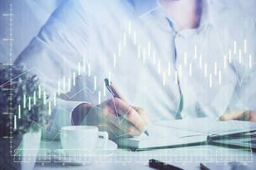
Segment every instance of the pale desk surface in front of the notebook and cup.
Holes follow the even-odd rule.
[[[57,143],[55,142],[55,145]],[[199,164],[207,164],[207,162],[218,162],[223,166],[228,162],[238,162],[250,169],[255,169],[256,166],[256,153],[250,149],[201,145],[137,151],[116,149],[112,154],[92,156],[89,161],[86,160],[79,165],[70,163],[68,157],[58,161],[55,157],[51,157],[50,162],[37,162],[34,169],[151,169],[149,159],[157,159],[182,169],[200,169]],[[79,160],[78,156],[76,160]]]

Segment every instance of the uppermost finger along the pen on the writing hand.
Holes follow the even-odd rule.
[[[132,123],[140,132],[146,130],[146,124],[144,123],[143,118],[134,110],[134,108],[119,98],[112,98],[110,102],[112,102],[112,108],[109,107],[108,109],[112,110],[109,110],[112,114],[114,111],[115,115],[117,115],[117,113],[123,115],[124,118]],[[109,106],[111,106],[111,104]]]

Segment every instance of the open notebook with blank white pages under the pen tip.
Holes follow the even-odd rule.
[[[163,121],[161,125],[149,125],[147,130],[150,134],[149,137],[143,133],[139,137],[119,139],[117,144],[131,148],[196,145],[207,143],[213,137],[256,131],[256,123],[238,120],[220,121],[214,120],[213,118],[196,118]]]

